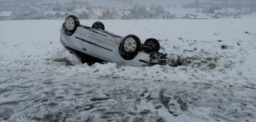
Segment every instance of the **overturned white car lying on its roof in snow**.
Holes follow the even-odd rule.
[[[82,63],[112,62],[118,66],[165,65],[166,54],[159,53],[157,39],[147,39],[144,44],[135,35],[118,36],[105,30],[103,23],[92,27],[80,25],[78,18],[69,15],[61,26],[61,43]]]

